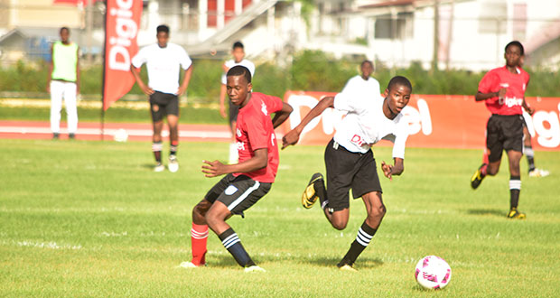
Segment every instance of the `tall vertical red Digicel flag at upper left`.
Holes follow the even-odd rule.
[[[142,0],[107,0],[103,109],[122,98],[135,84],[130,60],[138,51],[136,36]]]

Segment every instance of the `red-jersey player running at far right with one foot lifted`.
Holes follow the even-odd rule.
[[[523,111],[532,114],[532,108],[525,102],[525,90],[529,75],[519,66],[524,50],[520,42],[509,42],[504,57],[506,65],[490,70],[479,83],[476,101],[484,101],[492,113],[486,126],[486,149],[488,161],[471,177],[472,189],[481,185],[486,175],[494,176],[499,171],[501,154],[504,150],[509,160],[509,219],[525,219],[518,210],[521,191],[519,162],[523,156]]]

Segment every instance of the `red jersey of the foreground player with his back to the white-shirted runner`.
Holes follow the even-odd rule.
[[[236,125],[239,163],[251,159],[255,156],[255,150],[260,148],[268,149],[268,163],[266,168],[254,172],[236,172],[235,176],[243,174],[257,182],[275,182],[280,159],[270,115],[280,111],[282,105],[280,98],[253,92],[247,105],[239,108]]]

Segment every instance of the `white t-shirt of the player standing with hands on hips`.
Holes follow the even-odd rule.
[[[148,70],[148,86],[169,94],[176,94],[179,89],[179,67],[188,70],[192,65],[191,57],[182,46],[171,42],[165,48],[154,43],[138,51],[132,65],[140,68],[144,63]]]

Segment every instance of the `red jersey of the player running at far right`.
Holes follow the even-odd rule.
[[[481,93],[498,92],[500,88],[507,88],[503,99],[498,97],[485,100],[486,107],[492,114],[521,115],[523,114],[523,98],[529,82],[527,71],[516,68],[517,73],[509,72],[506,66],[487,72],[479,83]]]

